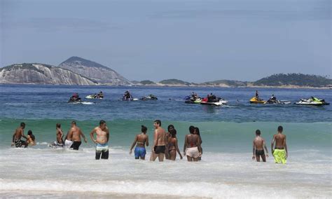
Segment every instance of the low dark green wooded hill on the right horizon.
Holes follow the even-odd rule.
[[[258,86],[284,86],[295,85],[302,87],[327,87],[332,85],[332,79],[323,76],[307,74],[273,74],[255,81]]]

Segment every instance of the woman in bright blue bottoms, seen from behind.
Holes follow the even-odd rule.
[[[129,154],[132,154],[132,149],[135,144],[137,144],[134,151],[135,159],[145,160],[145,146],[148,146],[148,135],[146,135],[147,130],[148,128],[146,128],[146,126],[141,125],[141,133],[135,136],[134,142],[132,143]]]

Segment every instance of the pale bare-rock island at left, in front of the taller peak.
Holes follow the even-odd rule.
[[[96,85],[95,81],[48,64],[12,64],[0,69],[0,83]]]

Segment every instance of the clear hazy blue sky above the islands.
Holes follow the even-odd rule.
[[[330,0],[0,0],[0,66],[71,56],[133,81],[331,78]]]

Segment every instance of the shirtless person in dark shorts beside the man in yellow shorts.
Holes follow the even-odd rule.
[[[266,151],[266,157],[263,147]],[[268,147],[266,147],[265,140],[261,137],[261,130],[256,130],[256,137],[252,142],[252,153],[253,160],[256,157],[256,161],[260,162],[260,158],[262,157],[263,162],[266,162],[266,158],[268,157]]]

